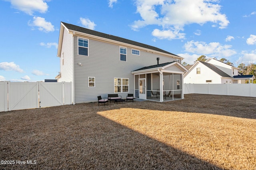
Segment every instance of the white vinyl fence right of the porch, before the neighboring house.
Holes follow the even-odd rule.
[[[256,84],[184,84],[184,94],[256,97]]]

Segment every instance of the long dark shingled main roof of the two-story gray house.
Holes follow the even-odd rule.
[[[62,23],[65,25],[65,27],[67,27],[68,29],[71,29],[73,31],[78,31],[78,32],[81,32],[81,33],[87,33],[87,34],[90,34],[90,35],[95,35],[95,36],[98,36],[98,37],[112,39],[114,41],[119,41],[119,42],[122,42],[122,43],[136,45],[138,47],[143,47],[143,48],[146,48],[146,49],[151,49],[151,50],[154,50],[154,51],[159,51],[159,52],[170,54],[170,55],[175,55],[175,54],[169,53],[168,51],[164,51],[164,50],[159,49],[157,47],[153,47],[151,45],[138,43],[136,41],[132,41],[132,40],[129,40],[129,39],[124,39],[124,38],[117,37],[117,36],[110,35],[110,34],[101,33],[101,32],[98,32],[98,31],[94,31],[94,30],[87,29],[87,28],[84,28],[84,27],[79,27],[79,26],[72,25],[72,24],[69,24],[69,23],[64,23],[64,22],[62,22]],[[175,56],[178,56],[178,55],[175,55]],[[180,57],[180,56],[178,56],[178,57]]]

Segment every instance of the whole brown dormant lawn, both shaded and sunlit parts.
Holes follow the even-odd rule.
[[[0,159],[0,169],[255,170],[256,98],[0,112]]]

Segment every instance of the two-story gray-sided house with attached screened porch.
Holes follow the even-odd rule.
[[[57,56],[56,79],[72,82],[73,104],[108,94],[160,102],[184,98],[183,58],[150,45],[61,22]]]

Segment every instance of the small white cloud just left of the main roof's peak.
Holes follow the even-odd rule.
[[[38,27],[40,31],[44,31],[46,33],[54,31],[54,25],[52,25],[52,23],[46,21],[42,17],[33,17],[32,23],[28,21],[28,25],[32,27]]]

